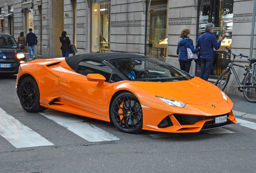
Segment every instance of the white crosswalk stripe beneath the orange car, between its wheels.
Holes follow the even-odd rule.
[[[72,114],[54,110],[46,110],[44,112],[40,112],[40,114],[53,120],[89,142],[120,140],[111,133],[108,133],[90,123],[85,123],[83,120],[76,118]]]

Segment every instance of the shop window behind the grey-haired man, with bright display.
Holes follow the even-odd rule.
[[[216,39],[223,37],[221,47],[215,50],[215,58],[211,78],[217,78],[230,62],[230,56],[225,52],[225,47],[231,49],[233,30],[233,3],[234,0],[200,0],[198,36],[204,34],[204,27],[212,22],[215,25],[213,34]],[[200,75],[200,66],[196,68],[196,76]],[[215,76],[215,77],[214,77]]]

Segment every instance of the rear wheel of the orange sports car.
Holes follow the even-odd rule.
[[[21,106],[29,113],[41,112],[45,108],[40,106],[40,94],[37,82],[31,76],[24,78],[19,84],[18,95]]]

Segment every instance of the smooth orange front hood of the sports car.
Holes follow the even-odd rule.
[[[145,82],[137,84],[140,86],[134,87],[139,87],[140,91],[187,104],[206,105],[207,103],[218,103],[223,100],[219,88],[198,77],[184,81],[150,82],[147,86],[145,86]]]

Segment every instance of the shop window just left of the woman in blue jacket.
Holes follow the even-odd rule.
[[[149,3],[146,55],[165,60],[168,43],[168,0],[151,0]]]

